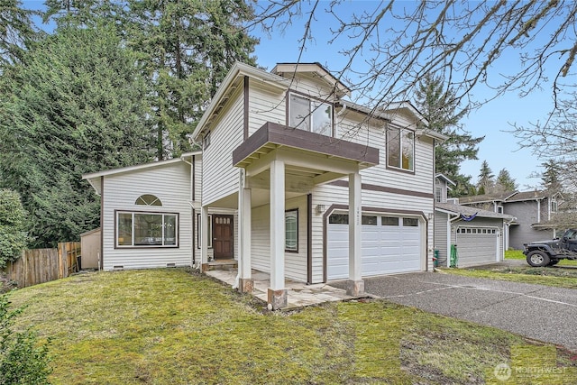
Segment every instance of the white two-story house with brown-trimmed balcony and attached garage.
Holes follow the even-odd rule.
[[[104,192],[103,268],[234,259],[241,291],[252,270],[270,273],[273,308],[288,279],[348,280],[360,295],[363,277],[432,270],[435,145],[447,138],[408,102],[375,111],[349,93],[318,63],[234,64],[192,133],[202,155],[84,177]],[[139,206],[148,195],[163,206]],[[141,212],[176,220],[178,241],[124,244]]]

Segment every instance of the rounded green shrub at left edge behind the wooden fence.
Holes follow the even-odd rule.
[[[13,190],[0,189],[0,269],[8,261],[16,261],[28,242],[25,229],[26,212],[20,196]]]

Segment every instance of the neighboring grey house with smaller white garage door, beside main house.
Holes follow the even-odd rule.
[[[435,250],[439,266],[451,266],[452,247],[457,266],[468,267],[503,261],[511,215],[478,207],[462,206],[447,199],[453,181],[443,174],[435,178]]]

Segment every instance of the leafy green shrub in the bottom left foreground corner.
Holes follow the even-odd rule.
[[[14,332],[14,317],[22,308],[10,310],[6,294],[0,296],[0,385],[49,384],[48,344],[39,344],[30,329]]]

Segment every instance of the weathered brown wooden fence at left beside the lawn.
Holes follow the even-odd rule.
[[[5,273],[19,288],[60,280],[78,271],[79,242],[58,243],[56,249],[24,250],[22,258],[8,262]]]

